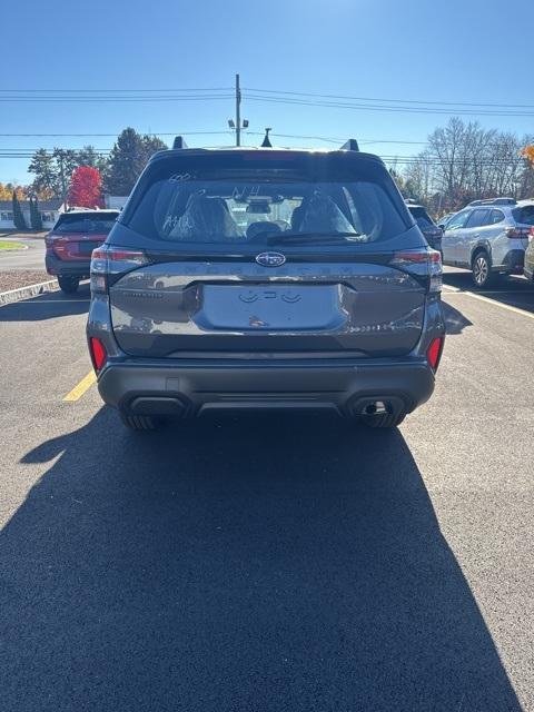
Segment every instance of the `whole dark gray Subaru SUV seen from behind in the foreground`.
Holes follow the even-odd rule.
[[[350,140],[156,154],[91,263],[89,349],[135,429],[220,409],[392,427],[434,389],[439,253]]]

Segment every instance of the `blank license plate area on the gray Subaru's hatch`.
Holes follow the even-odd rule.
[[[346,322],[339,285],[205,285],[195,320],[206,329],[329,330]]]

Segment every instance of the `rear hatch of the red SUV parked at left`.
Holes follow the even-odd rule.
[[[118,212],[63,214],[47,237],[47,248],[63,261],[89,261],[109,235]]]

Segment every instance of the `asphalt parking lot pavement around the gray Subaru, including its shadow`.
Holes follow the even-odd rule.
[[[390,433],[134,434],[88,291],[0,308],[0,710],[534,710],[534,288],[447,270],[432,400]]]

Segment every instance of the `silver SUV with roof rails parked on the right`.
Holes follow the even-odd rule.
[[[476,287],[501,275],[522,274],[534,200],[475,200],[452,217],[442,240],[445,265],[472,270]]]

